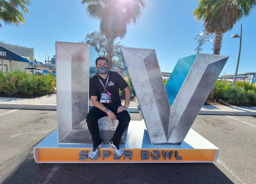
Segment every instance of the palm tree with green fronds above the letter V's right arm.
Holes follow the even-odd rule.
[[[223,34],[248,16],[255,6],[256,0],[199,0],[193,15],[197,22],[202,20],[207,32],[215,34],[213,54],[219,55]]]

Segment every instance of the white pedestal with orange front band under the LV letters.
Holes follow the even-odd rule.
[[[57,131],[34,147],[38,163],[139,163],[139,162],[214,162],[219,149],[190,129],[181,145],[152,145],[143,121],[131,121],[126,143],[120,145],[124,155],[117,157],[108,144],[92,160],[88,154],[92,144],[57,143]]]

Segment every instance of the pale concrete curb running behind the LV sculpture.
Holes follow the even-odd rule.
[[[32,109],[32,110],[56,110],[56,105],[52,104],[22,104],[22,103],[0,103],[0,109]],[[128,108],[130,113],[139,113],[138,108]],[[200,115],[233,115],[233,116],[256,116],[253,111],[216,111],[200,110]]]

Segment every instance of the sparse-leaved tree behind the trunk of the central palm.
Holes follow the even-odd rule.
[[[87,33],[83,41],[79,41],[79,43],[90,44],[97,52],[99,56],[106,57],[107,55],[107,39],[105,35],[99,33],[98,31],[94,31],[90,34]],[[120,42],[114,43],[113,45],[113,67],[120,68],[123,65],[123,61],[121,58],[121,47]]]

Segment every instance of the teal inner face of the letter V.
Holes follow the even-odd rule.
[[[178,60],[175,68],[173,69],[172,75],[170,76],[168,82],[166,83],[166,92],[169,98],[170,106],[172,106],[174,99],[176,98],[181,85],[183,84],[188,71],[192,67],[196,59],[197,54],[183,57]]]

